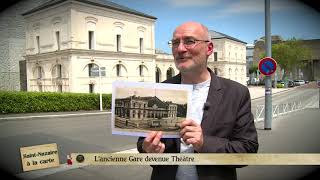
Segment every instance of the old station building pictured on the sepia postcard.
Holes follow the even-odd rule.
[[[178,105],[153,97],[130,96],[115,100],[115,125],[118,127],[176,128]],[[184,116],[185,117],[185,116]]]

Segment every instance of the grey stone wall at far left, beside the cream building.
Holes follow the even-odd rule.
[[[23,0],[0,12],[0,90],[26,89],[20,85],[21,68],[19,61],[25,55],[25,26],[26,21],[21,15],[49,0]],[[25,71],[24,76],[25,76]]]

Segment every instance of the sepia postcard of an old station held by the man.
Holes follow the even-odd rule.
[[[181,121],[189,117],[191,85],[114,81],[112,134],[146,136],[162,131],[179,138]]]

